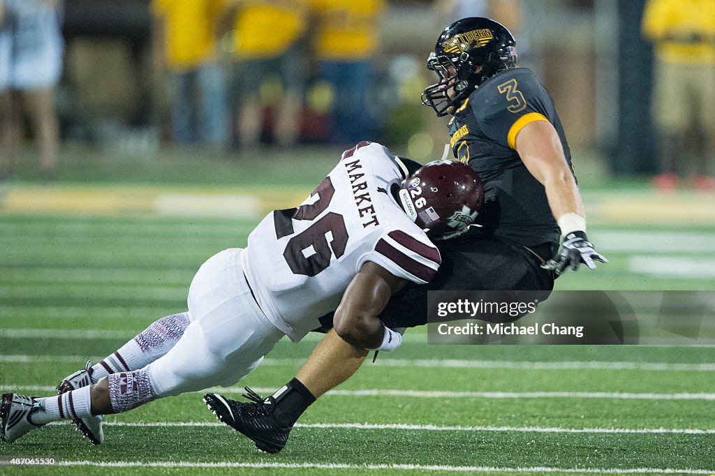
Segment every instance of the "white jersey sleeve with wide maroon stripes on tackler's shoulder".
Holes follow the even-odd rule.
[[[442,264],[439,250],[425,235],[412,235],[399,229],[383,234],[373,251],[360,260],[358,269],[366,261],[380,264],[395,276],[417,284],[430,282]]]

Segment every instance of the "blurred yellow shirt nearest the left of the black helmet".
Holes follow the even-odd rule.
[[[384,0],[311,0],[317,16],[315,53],[320,59],[368,59],[379,47]]]

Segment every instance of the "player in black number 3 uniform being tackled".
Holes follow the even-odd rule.
[[[571,152],[551,96],[532,71],[517,67],[511,33],[490,19],[455,21],[440,35],[428,68],[439,81],[425,89],[423,103],[451,116],[454,156],[480,175],[485,203],[480,227],[441,242],[435,278],[393,295],[380,314],[385,325],[426,324],[430,289],[548,294],[568,267],[606,262],[586,237]],[[235,407],[244,434],[280,450],[315,401],[293,387],[319,397],[358,370],[366,354],[329,332],[294,380],[265,400]]]

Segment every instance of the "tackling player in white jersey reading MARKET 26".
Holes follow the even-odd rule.
[[[431,162],[409,175],[388,149],[360,142],[300,207],[268,214],[246,248],[204,262],[187,312],[157,320],[99,364],[88,362],[57,396],[4,394],[2,440],[66,419],[98,445],[100,415],[233,385],[281,337],[300,340],[334,309],[345,342],[395,349],[402,336],[385,327],[380,311],[405,283],[432,279],[440,254],[431,240],[464,232],[482,202],[481,182],[464,164]]]

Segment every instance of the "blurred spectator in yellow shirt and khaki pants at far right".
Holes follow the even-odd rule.
[[[715,0],[649,0],[643,34],[656,54],[654,122],[660,174],[654,187],[672,191],[679,172],[694,173],[701,191],[715,189]],[[692,144],[695,164],[684,164]],[[680,161],[680,163],[678,163]]]

